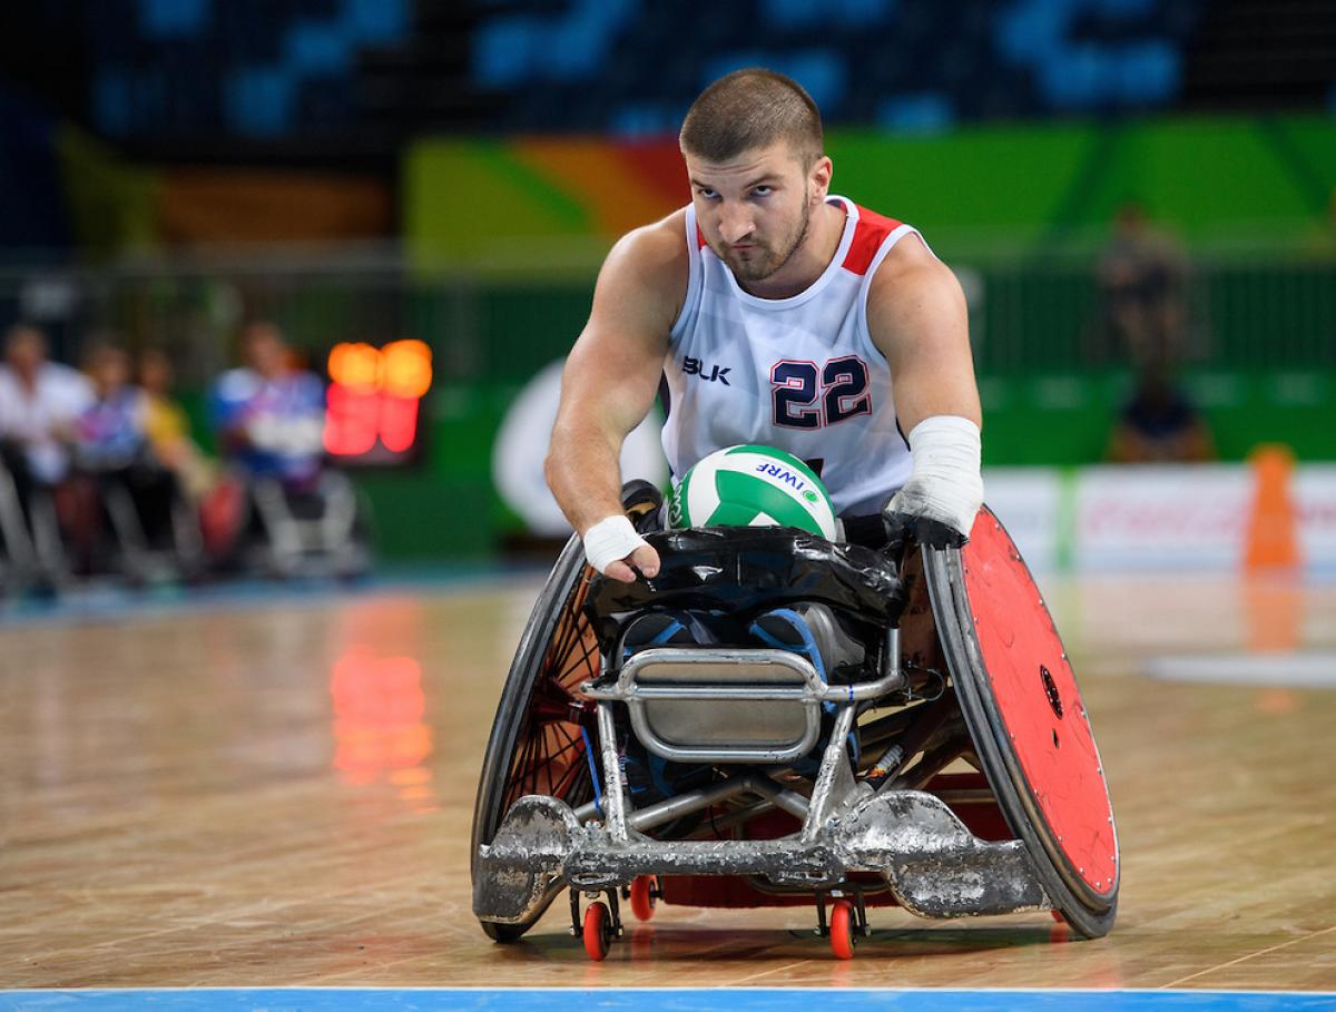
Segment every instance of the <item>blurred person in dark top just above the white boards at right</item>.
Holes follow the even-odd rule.
[[[1109,439],[1114,463],[1210,461],[1216,455],[1205,421],[1164,370],[1150,368],[1122,409]]]

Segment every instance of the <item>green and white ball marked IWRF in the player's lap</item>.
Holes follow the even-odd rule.
[[[669,527],[799,527],[835,539],[831,497],[806,463],[770,446],[729,446],[697,461],[668,499]]]

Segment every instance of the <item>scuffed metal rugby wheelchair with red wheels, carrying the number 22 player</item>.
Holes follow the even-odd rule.
[[[883,905],[1049,909],[1078,935],[1109,931],[1104,769],[1057,630],[987,507],[963,547],[911,545],[896,562],[875,537],[660,531],[645,483],[623,505],[660,573],[607,579],[572,538],[502,692],[470,865],[492,939],[520,939],[562,888],[595,960],[625,900],[640,919],[659,900],[815,903],[840,959]],[[763,617],[804,610],[824,627],[806,645],[766,633]],[[657,634],[637,634],[655,617]],[[696,625],[713,636],[676,636]]]

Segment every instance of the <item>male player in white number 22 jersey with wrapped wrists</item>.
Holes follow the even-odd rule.
[[[839,514],[884,507],[892,531],[967,535],[981,413],[955,276],[910,226],[828,194],[820,113],[783,75],[715,81],[680,140],[692,202],[608,254],[562,375],[545,470],[589,563],[627,582],[659,571],[617,459],[660,375],[675,475],[775,446],[814,462]]]

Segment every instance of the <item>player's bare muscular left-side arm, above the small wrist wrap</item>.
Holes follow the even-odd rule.
[[[561,375],[561,405],[544,466],[557,505],[581,537],[621,514],[621,445],[653,403],[668,332],[685,298],[687,271],[676,214],[624,236],[599,274],[589,322]],[[643,558],[644,551],[649,555]],[[647,547],[633,561],[648,565],[651,557],[656,563]],[[625,563],[607,571],[633,578]]]

